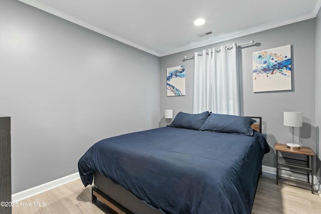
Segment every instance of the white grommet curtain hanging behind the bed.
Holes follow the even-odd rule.
[[[203,50],[194,56],[193,113],[241,114],[237,46]]]

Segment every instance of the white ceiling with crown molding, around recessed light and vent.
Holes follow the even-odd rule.
[[[158,57],[311,19],[321,6],[321,0],[19,1]],[[206,23],[195,26],[198,18]],[[197,36],[209,30],[214,34]]]

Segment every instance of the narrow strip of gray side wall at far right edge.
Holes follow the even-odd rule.
[[[321,181],[321,147],[320,147],[320,126],[321,126],[321,10],[315,22],[315,127],[316,127],[316,177]]]

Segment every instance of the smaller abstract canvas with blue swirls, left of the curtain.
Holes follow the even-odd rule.
[[[167,96],[185,95],[185,65],[167,69]]]

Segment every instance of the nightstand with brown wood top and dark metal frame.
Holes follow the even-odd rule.
[[[278,184],[278,179],[288,179],[300,183],[310,184],[311,192],[313,194],[313,157],[315,156],[313,150],[309,147],[301,146],[299,149],[290,149],[286,144],[275,143],[275,152],[276,152],[276,184]],[[294,157],[279,157],[279,152],[287,152],[292,154],[305,155],[306,160],[302,160]],[[309,157],[311,157],[311,168],[309,167]],[[284,169],[287,168],[287,169]],[[290,177],[281,177],[279,176],[279,170],[290,171],[293,170],[294,173],[305,174],[307,176],[307,182],[301,180],[292,179]],[[311,182],[309,179],[309,174],[311,173]]]

